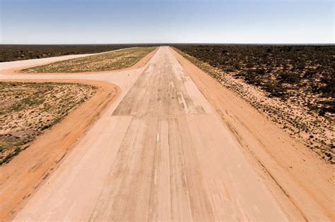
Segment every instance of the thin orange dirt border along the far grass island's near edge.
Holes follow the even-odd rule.
[[[146,56],[144,56],[143,58],[141,58],[139,61],[137,61],[134,65],[127,67],[127,68],[120,68],[117,70],[103,70],[103,71],[92,71],[92,72],[76,72],[74,74],[98,74],[98,73],[117,73],[120,71],[125,71],[125,70],[134,70],[136,68],[142,68],[143,66],[146,65],[146,63],[148,63],[148,61],[151,59],[151,57],[153,57],[153,55],[156,53],[156,51],[158,50],[158,47],[156,47],[153,51],[151,51],[150,53],[148,53]],[[85,58],[81,57],[81,58]],[[45,66],[49,63],[42,63],[39,66]],[[9,74],[9,75],[18,75],[18,74],[23,74],[23,75],[69,75],[71,73],[23,73],[21,70],[23,69],[28,69],[28,68],[33,68],[35,67],[35,65],[30,65],[30,66],[20,66],[20,67],[16,67],[16,68],[9,68],[6,70],[1,70],[1,74]]]

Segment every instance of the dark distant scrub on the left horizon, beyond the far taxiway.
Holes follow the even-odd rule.
[[[71,54],[92,54],[148,44],[76,44],[76,45],[14,45],[0,44],[0,62],[31,58],[47,58]]]

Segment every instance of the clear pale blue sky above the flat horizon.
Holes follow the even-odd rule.
[[[0,0],[1,44],[334,43],[327,0]]]

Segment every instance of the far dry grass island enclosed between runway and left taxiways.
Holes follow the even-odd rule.
[[[22,70],[25,73],[81,73],[128,68],[153,51],[155,47],[136,47],[94,56],[58,61]]]

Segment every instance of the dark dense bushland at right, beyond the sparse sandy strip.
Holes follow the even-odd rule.
[[[177,45],[200,61],[256,85],[269,97],[302,98],[319,115],[335,113],[335,46]]]

